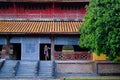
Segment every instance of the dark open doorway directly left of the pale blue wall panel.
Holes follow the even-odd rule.
[[[21,60],[21,43],[13,43],[13,54],[15,60]]]

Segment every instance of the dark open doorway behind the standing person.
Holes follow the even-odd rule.
[[[45,60],[45,54],[44,54],[44,47],[45,47],[45,45],[47,45],[49,48],[51,47],[51,45],[50,44],[40,44],[40,60]],[[49,58],[48,58],[48,60],[51,60],[51,49],[48,49],[48,56],[49,56]]]

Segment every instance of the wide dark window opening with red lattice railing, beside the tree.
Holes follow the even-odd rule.
[[[88,49],[80,48],[79,45],[56,45],[54,57],[56,60],[90,60]]]

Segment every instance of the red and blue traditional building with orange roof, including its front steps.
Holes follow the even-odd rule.
[[[6,58],[19,60],[14,62],[17,69],[14,76],[30,76],[34,69],[37,70],[34,75],[41,77],[48,73],[95,75],[92,55],[78,44],[78,27],[84,21],[88,4],[89,0],[0,0],[0,50],[6,50]],[[48,60],[45,60],[45,45],[50,48]],[[27,63],[31,69],[23,67],[24,61],[36,63]],[[3,74],[0,72],[0,76]]]

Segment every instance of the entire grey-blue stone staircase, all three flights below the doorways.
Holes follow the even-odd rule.
[[[40,77],[52,78],[52,61],[5,61],[0,77]],[[13,66],[14,65],[14,66]],[[14,69],[16,66],[17,69]],[[16,73],[16,75],[15,75]]]

